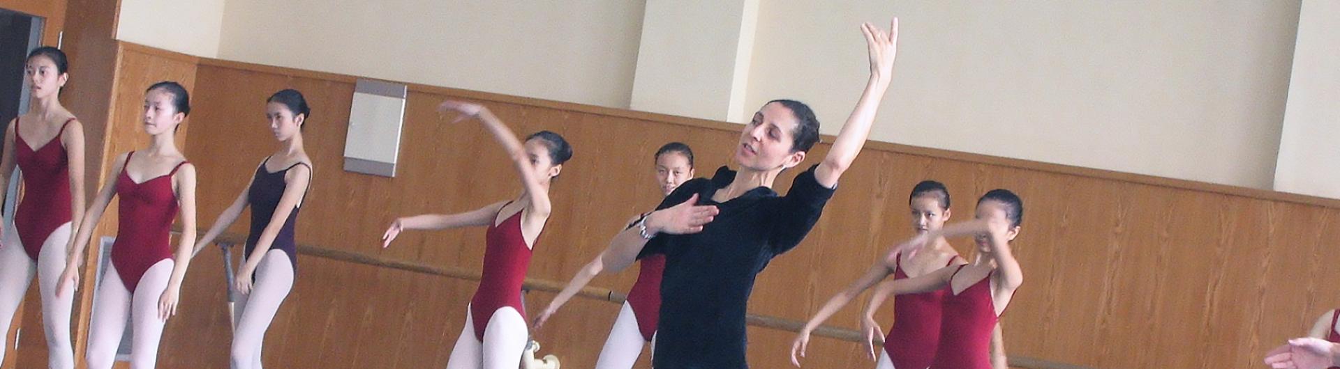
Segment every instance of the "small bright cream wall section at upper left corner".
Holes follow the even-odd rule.
[[[196,56],[218,56],[225,0],[121,0],[117,39]]]

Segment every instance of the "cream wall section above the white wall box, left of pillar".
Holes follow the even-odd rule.
[[[643,5],[228,0],[218,56],[627,108]]]

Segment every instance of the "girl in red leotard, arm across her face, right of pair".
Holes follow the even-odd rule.
[[[902,250],[921,247],[939,237],[970,234],[977,241],[978,254],[972,263],[894,281],[894,294],[949,289],[941,308],[939,345],[930,368],[990,369],[992,332],[1014,297],[1014,290],[1024,282],[1024,274],[1009,246],[1024,221],[1024,202],[1009,190],[992,190],[977,201],[976,218],[973,222],[919,234],[896,247],[887,258],[894,259]],[[807,325],[792,344],[793,364],[799,365],[797,354],[804,357],[812,329],[812,325]]]

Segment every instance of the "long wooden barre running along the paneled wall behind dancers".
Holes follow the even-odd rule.
[[[244,238],[244,237],[232,235],[232,234],[224,234],[224,235],[220,235],[214,241],[214,243],[241,245],[243,242],[245,242],[245,239],[247,238]],[[328,247],[320,247],[320,246],[297,245],[297,253],[299,254],[304,254],[304,255],[327,258],[327,259],[332,259],[332,261],[342,261],[342,262],[352,262],[352,263],[360,263],[360,265],[368,265],[368,266],[389,267],[389,269],[406,270],[406,271],[414,271],[414,273],[422,273],[422,274],[431,274],[431,275],[442,275],[442,277],[457,278],[457,279],[466,279],[466,281],[478,281],[480,279],[480,271],[477,271],[477,270],[469,270],[469,269],[462,269],[462,267],[450,267],[450,266],[437,266],[437,265],[429,265],[429,263],[423,263],[423,262],[397,261],[397,259],[390,259],[390,258],[374,257],[374,255],[368,255],[368,254],[346,251],[346,250],[336,250],[336,249],[328,249]],[[525,278],[525,282],[521,285],[521,287],[527,289],[527,290],[547,291],[547,293],[555,293],[555,294],[563,291],[564,286],[565,286],[565,283],[563,283],[563,282],[548,281],[548,279],[539,279],[539,278]],[[614,302],[614,303],[623,303],[623,301],[627,299],[627,294],[618,293],[618,291],[614,291],[614,290],[610,290],[610,289],[591,287],[591,286],[582,287],[582,290],[578,291],[576,295],[583,297],[583,298],[590,298],[590,299],[608,301],[608,302]],[[758,316],[758,314],[746,314],[745,316],[745,322],[748,322],[752,326],[766,328],[766,329],[776,329],[776,330],[785,330],[785,332],[800,332],[800,329],[805,326],[805,324],[801,322],[801,321],[779,318],[779,317],[769,317],[769,316]],[[819,336],[819,337],[828,337],[828,338],[842,340],[842,341],[847,341],[847,342],[858,342],[858,344],[859,342],[864,342],[864,337],[862,337],[860,332],[856,332],[856,330],[852,330],[852,329],[828,326],[828,325],[819,326],[817,329],[815,329],[815,332],[812,334],[813,336]],[[883,340],[883,337],[876,338],[876,344],[882,344],[882,342],[879,342],[882,340]],[[1080,366],[1080,365],[1072,365],[1072,364],[1064,364],[1064,362],[1055,362],[1055,361],[1048,361],[1048,360],[1041,360],[1041,358],[1034,358],[1034,357],[1026,357],[1026,356],[1009,356],[1008,360],[1009,360],[1009,365],[1014,366],[1014,368],[1028,368],[1028,369],[1092,369],[1092,368],[1088,368],[1088,366]]]

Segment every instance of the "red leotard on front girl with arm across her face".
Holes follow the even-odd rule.
[[[959,265],[949,281],[963,270]],[[996,302],[992,298],[992,274],[977,281],[958,294],[945,295],[943,318],[939,326],[939,348],[935,348],[933,369],[992,369],[990,342],[992,329],[1000,317],[996,316]]]

